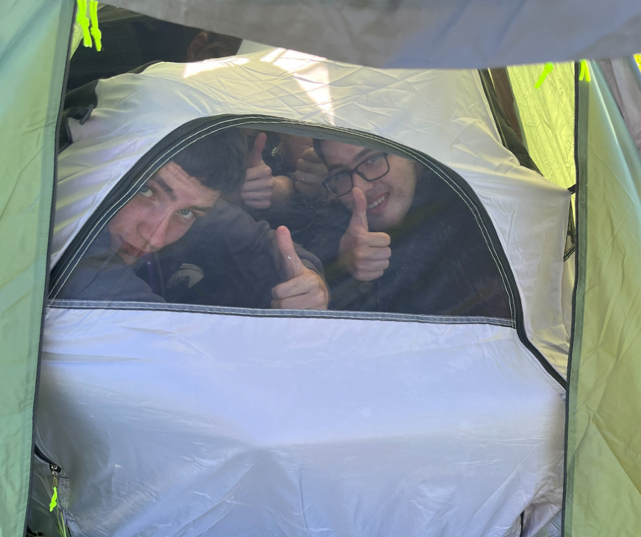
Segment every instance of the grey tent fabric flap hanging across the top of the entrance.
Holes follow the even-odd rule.
[[[112,0],[176,23],[372,67],[469,68],[641,51],[635,0]]]

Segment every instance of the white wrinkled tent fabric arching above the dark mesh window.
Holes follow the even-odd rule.
[[[158,63],[99,81],[99,106],[59,159],[52,265],[131,167],[194,118],[263,114],[379,134],[469,183],[489,213],[523,302],[525,328],[564,372],[560,308],[570,196],[500,143],[474,71],[376,70],[285,50]]]

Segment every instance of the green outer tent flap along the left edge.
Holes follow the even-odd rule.
[[[73,4],[0,5],[0,536],[20,536],[47,268],[55,131]]]

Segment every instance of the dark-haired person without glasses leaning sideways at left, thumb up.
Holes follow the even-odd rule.
[[[243,182],[244,157],[229,130],[176,154],[109,220],[58,297],[327,308],[316,257],[285,227],[220,200]]]

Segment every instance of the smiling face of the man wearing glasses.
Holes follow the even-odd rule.
[[[349,171],[380,154],[378,149],[367,149],[357,145],[323,141],[323,156],[329,175]],[[389,171],[380,179],[366,181],[354,172],[352,182],[365,194],[367,199],[367,222],[370,231],[385,231],[405,218],[414,199],[418,165],[416,162],[396,155],[388,155]],[[338,198],[345,207],[354,209],[352,192]]]

